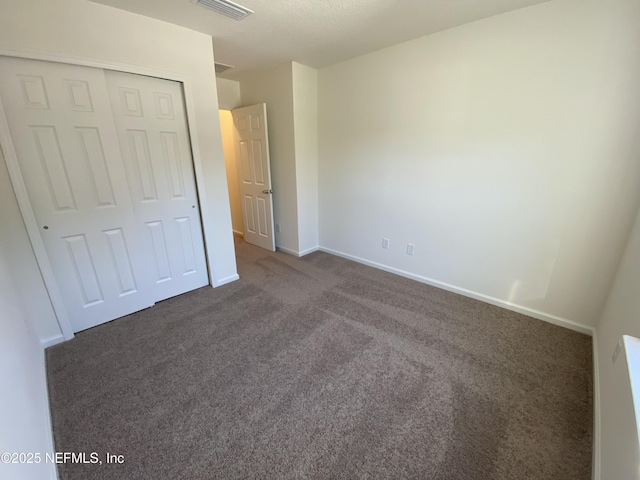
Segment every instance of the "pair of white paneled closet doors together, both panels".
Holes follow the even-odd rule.
[[[174,82],[118,74],[131,77],[135,86],[115,87],[119,97],[110,99],[106,73],[0,57],[0,99],[74,331],[208,283],[197,202],[189,193],[195,185],[180,86],[176,90]],[[167,87],[161,88],[164,83]],[[121,93],[126,88],[137,95],[130,99]],[[146,106],[146,96],[157,103]],[[176,123],[130,127],[112,108],[121,99],[133,108],[138,101],[138,113],[144,107],[148,120],[173,114]],[[128,163],[132,145],[138,155],[133,160],[144,156],[144,166]],[[140,176],[134,172],[147,167],[142,203],[153,206],[143,212],[136,204]],[[180,180],[171,184],[174,173]],[[175,202],[182,209],[168,208],[178,188],[186,202]],[[155,215],[150,213],[154,208]]]

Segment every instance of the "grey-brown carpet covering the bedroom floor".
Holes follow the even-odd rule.
[[[56,450],[103,462],[62,479],[591,478],[590,337],[326,253],[237,254],[241,280],[47,350]]]

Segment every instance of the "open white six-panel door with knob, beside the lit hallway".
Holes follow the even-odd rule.
[[[276,242],[273,232],[267,107],[260,103],[237,108],[231,113],[235,125],[244,239],[273,252]]]

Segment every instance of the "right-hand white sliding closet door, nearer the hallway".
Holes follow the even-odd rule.
[[[106,72],[155,301],[208,285],[182,85]]]

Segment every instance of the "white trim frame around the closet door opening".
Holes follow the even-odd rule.
[[[70,65],[78,65],[84,67],[100,68],[103,70],[116,70],[119,72],[132,73],[136,75],[146,75],[150,77],[162,78],[165,80],[173,80],[182,84],[182,90],[184,94],[185,111],[187,116],[187,129],[189,132],[189,141],[191,142],[191,155],[193,159],[193,169],[195,173],[196,190],[198,196],[198,203],[200,207],[200,222],[202,225],[202,237],[205,244],[205,259],[207,264],[207,271],[209,277],[209,284],[219,286],[226,282],[217,282],[213,278],[213,268],[210,264],[210,258],[207,254],[207,237],[205,225],[210,222],[211,215],[209,215],[207,203],[204,201],[204,184],[202,179],[204,178],[204,172],[202,169],[202,158],[200,156],[198,134],[196,129],[196,117],[195,117],[195,103],[193,101],[193,90],[191,85],[191,78],[188,75],[170,72],[161,69],[139,67],[136,65],[129,65],[118,62],[110,62],[107,60],[100,60],[89,57],[79,57],[74,55],[65,55],[61,53],[34,51],[21,48],[0,48],[0,56],[17,57],[28,60],[43,60],[46,62],[54,63],[66,63]],[[44,280],[45,287],[53,306],[58,325],[62,332],[62,336],[65,340],[71,340],[74,337],[73,327],[67,314],[67,309],[62,301],[62,295],[58,288],[58,283],[53,274],[53,268],[49,261],[49,256],[44,247],[44,241],[42,239],[40,228],[36,222],[36,217],[31,206],[31,200],[27,194],[27,188],[22,178],[22,172],[18,163],[18,157],[11,138],[11,132],[9,130],[9,123],[5,115],[4,105],[2,98],[0,98],[0,147],[4,153],[5,163],[9,171],[9,178],[15,192],[16,199],[18,201],[18,207],[24,220],[24,224],[33,247],[33,252],[40,268],[40,273]]]

